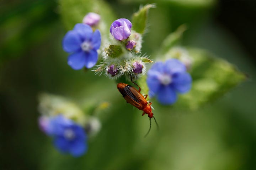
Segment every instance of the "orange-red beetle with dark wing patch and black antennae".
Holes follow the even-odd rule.
[[[132,80],[132,78],[131,78],[131,80]],[[132,83],[134,83],[134,82],[132,81]],[[134,83],[134,84],[137,85],[136,83]],[[153,116],[152,109],[150,106],[152,104],[152,102],[148,103],[148,101],[146,101],[146,98],[148,97],[148,95],[145,95],[145,97],[144,97],[140,93],[140,90],[141,90],[140,87],[139,87],[139,90],[137,90],[133,86],[130,86],[128,84],[118,83],[117,89],[123,95],[123,97],[127,101],[127,103],[130,103],[133,106],[137,107],[139,110],[142,110],[143,111],[142,115],[148,114],[148,117],[150,118],[149,131],[151,129],[151,118],[154,118],[155,123],[158,126],[158,123],[156,122],[156,119]],[[149,133],[149,131],[148,131],[148,133]],[[145,135],[145,137],[148,135],[148,133]]]

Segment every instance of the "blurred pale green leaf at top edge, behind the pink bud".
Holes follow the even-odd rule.
[[[66,0],[59,1],[61,16],[66,29],[73,29],[76,23],[82,23],[82,19],[88,12],[95,12],[101,16],[98,25],[101,34],[107,35],[111,23],[115,20],[110,6],[102,0]]]

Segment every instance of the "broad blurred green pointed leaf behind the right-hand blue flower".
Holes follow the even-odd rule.
[[[239,72],[232,64],[215,58],[205,50],[192,48],[188,51],[193,58],[192,89],[187,94],[178,96],[174,108],[198,109],[246,79],[245,74]]]

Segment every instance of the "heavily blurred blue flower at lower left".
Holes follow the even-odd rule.
[[[87,150],[84,129],[63,115],[50,118],[46,134],[53,136],[54,145],[61,152],[79,157]]]

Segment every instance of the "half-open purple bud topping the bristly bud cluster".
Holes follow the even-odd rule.
[[[110,33],[116,40],[125,40],[130,36],[131,28],[132,23],[128,19],[120,18],[111,24]]]

